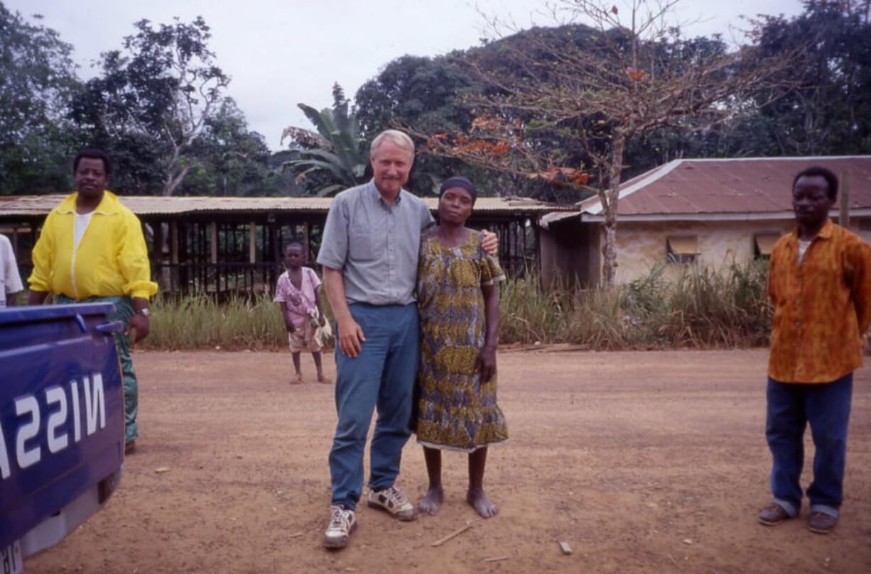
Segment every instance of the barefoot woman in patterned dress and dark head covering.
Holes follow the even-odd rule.
[[[417,305],[421,317],[415,431],[429,474],[420,510],[436,514],[444,497],[442,450],[469,453],[466,499],[485,518],[498,508],[483,490],[489,444],[508,438],[496,405],[499,289],[505,277],[481,235],[465,227],[475,204],[465,177],[442,184],[439,224],[421,239]]]

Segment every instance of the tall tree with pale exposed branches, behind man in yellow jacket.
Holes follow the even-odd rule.
[[[103,55],[103,74],[87,83],[72,117],[116,159],[116,187],[172,196],[194,167],[192,150],[230,78],[208,49],[202,17],[134,25],[124,50]]]

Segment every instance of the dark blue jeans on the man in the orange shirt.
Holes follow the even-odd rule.
[[[847,425],[853,373],[827,384],[779,383],[768,377],[766,438],[773,457],[773,502],[790,516],[801,509],[799,478],[808,423],[814,437],[814,482],[807,488],[812,512],[838,517],[847,462]]]

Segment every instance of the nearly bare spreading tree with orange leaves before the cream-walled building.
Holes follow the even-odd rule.
[[[488,50],[497,54],[496,65],[475,53],[465,59],[488,86],[466,99],[475,116],[466,133],[417,135],[426,137],[430,153],[494,170],[588,190],[595,178],[604,216],[602,280],[613,284],[630,138],[666,126],[702,130],[724,122],[798,56],[799,50],[762,57],[753,46],[729,50],[717,38],[685,39],[673,21],[678,2],[550,5],[560,26],[502,34],[497,50],[492,44]],[[505,30],[496,19],[490,25]],[[545,130],[577,140],[587,163],[561,163],[564,155],[538,137]]]

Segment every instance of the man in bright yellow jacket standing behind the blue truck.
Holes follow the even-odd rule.
[[[117,337],[124,377],[125,452],[136,446],[138,393],[130,355],[134,343],[148,335],[148,298],[157,293],[142,226],[118,197],[105,189],[109,158],[101,150],[82,150],[73,162],[76,191],[45,218],[33,248],[30,304],[51,293],[55,303],[115,304],[113,319],[128,325]]]

